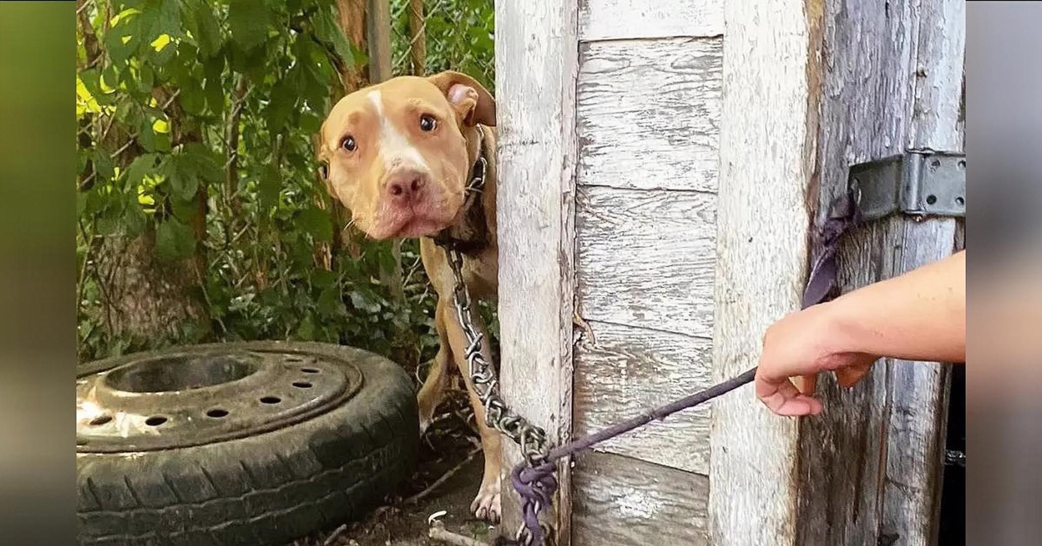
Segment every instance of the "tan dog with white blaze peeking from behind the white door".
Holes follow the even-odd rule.
[[[438,292],[435,324],[441,348],[418,395],[421,432],[430,424],[448,381],[449,363],[462,372],[485,452],[485,475],[471,504],[478,518],[500,513],[499,435],[485,424],[464,358],[466,341],[452,303],[453,277],[431,237],[448,229],[463,242],[464,278],[473,298],[495,298],[495,135],[492,95],[473,78],[443,72],[402,76],[344,97],[322,125],[319,158],[327,164],[329,193],[351,210],[373,239],[418,237],[423,267]],[[485,157],[485,187],[466,192]],[[485,330],[475,314],[476,326]],[[481,351],[488,362],[488,337]]]

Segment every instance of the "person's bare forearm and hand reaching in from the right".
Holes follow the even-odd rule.
[[[965,361],[965,251],[772,324],[764,336],[756,396],[778,415],[815,415],[821,402],[800,393],[790,377],[832,370],[850,387],[882,356]]]

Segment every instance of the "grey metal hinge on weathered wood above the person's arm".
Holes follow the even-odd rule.
[[[863,220],[902,213],[966,216],[966,154],[908,150],[850,167],[848,183]]]

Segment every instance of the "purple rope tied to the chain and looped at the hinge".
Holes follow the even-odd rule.
[[[836,252],[839,249],[840,238],[851,226],[858,224],[860,219],[860,212],[851,195],[847,194],[833,202],[828,219],[818,229],[817,233],[815,233],[812,243],[811,253],[814,259],[807,287],[803,289],[801,308],[807,308],[824,301],[832,292],[836,284],[836,273],[839,270]],[[543,527],[539,524],[539,515],[553,504],[553,494],[557,490],[557,479],[554,477],[556,470],[555,461],[571,456],[619,435],[624,435],[653,420],[661,421],[681,409],[708,402],[722,394],[729,393],[743,384],[751,382],[755,375],[756,369],[753,368],[737,377],[731,377],[693,395],[651,408],[637,417],[602,428],[563,446],[557,446],[551,449],[546,458],[538,466],[532,467],[525,462],[514,467],[514,470],[511,472],[511,483],[521,497],[524,530],[527,531],[530,539],[529,542],[523,544],[542,546],[545,540]],[[495,544],[498,546],[511,546],[522,543],[499,538]]]

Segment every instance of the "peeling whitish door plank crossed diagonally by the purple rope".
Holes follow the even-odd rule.
[[[577,436],[709,387],[712,341],[588,321],[575,348]],[[595,447],[662,466],[709,473],[710,404],[680,412]]]

